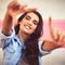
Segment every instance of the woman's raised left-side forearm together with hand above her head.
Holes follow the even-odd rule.
[[[2,24],[2,32],[4,35],[6,36],[11,35],[11,28],[12,28],[13,22],[17,20],[16,16],[18,14],[27,12],[27,11],[36,10],[36,9],[25,10],[26,6],[27,5],[21,5],[16,0],[9,3],[6,14],[4,16],[3,24]]]

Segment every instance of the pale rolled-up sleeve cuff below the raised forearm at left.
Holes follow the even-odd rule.
[[[12,28],[12,34],[10,36],[5,36],[4,34],[2,34],[2,29],[0,29],[0,47],[3,47],[5,41],[14,37],[14,28]]]

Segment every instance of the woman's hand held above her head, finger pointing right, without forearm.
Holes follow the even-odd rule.
[[[28,12],[28,11],[35,11],[36,9],[25,9],[27,5],[20,4],[16,0],[12,1],[8,5],[8,13],[12,17],[17,16],[21,13]]]

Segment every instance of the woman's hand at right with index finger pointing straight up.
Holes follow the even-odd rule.
[[[51,17],[49,17],[49,28],[50,28],[51,38],[53,39],[54,43],[57,47],[63,46],[64,44],[63,39],[65,38],[65,36],[61,31],[52,28],[52,18]]]

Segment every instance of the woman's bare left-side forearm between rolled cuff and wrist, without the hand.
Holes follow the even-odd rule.
[[[10,16],[6,13],[2,24],[2,32],[8,36],[11,34],[11,28],[12,28],[12,16]]]

